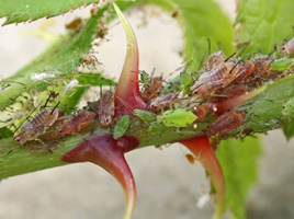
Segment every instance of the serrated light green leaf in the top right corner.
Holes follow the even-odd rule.
[[[237,11],[236,43],[242,55],[270,53],[293,32],[293,0],[240,0]]]

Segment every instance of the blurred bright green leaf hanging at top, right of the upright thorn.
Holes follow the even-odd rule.
[[[169,12],[179,11],[178,20],[184,31],[185,59],[193,60],[193,70],[200,69],[201,61],[207,55],[208,38],[212,42],[212,51],[224,49],[227,55],[234,51],[231,23],[214,1],[143,0],[143,2],[157,4]]]

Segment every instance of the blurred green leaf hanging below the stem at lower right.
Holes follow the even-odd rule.
[[[245,217],[249,187],[257,180],[257,162],[261,153],[259,139],[222,141],[216,155],[226,182],[226,208],[238,219]]]

